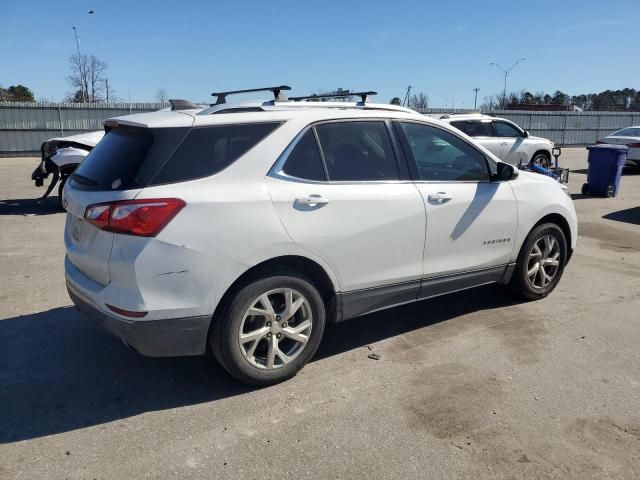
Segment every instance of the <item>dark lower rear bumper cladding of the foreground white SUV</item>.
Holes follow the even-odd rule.
[[[98,309],[69,281],[67,291],[78,310],[142,355],[174,357],[205,353],[210,316],[125,320]]]

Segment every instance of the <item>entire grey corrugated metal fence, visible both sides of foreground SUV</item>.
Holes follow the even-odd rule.
[[[158,103],[29,103],[0,102],[0,155],[33,155],[45,140],[101,130],[110,117],[150,112]],[[426,109],[438,117],[447,109]],[[464,110],[456,110],[463,113]],[[467,111],[468,112],[468,111]],[[588,145],[620,128],[640,125],[640,112],[491,112],[517,123],[532,135],[549,138],[558,145]]]

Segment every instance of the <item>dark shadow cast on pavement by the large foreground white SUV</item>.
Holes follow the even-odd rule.
[[[481,287],[329,325],[315,360],[512,302]],[[462,298],[464,297],[464,298]],[[148,358],[74,307],[0,320],[0,443],[241,395],[211,355]],[[277,387],[276,387],[277,388]]]

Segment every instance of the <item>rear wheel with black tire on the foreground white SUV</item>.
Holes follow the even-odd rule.
[[[294,311],[291,318],[286,306],[289,292],[289,304],[300,304],[289,309]],[[216,359],[236,379],[263,386],[288,380],[311,360],[322,339],[326,314],[316,287],[295,272],[285,272],[252,280],[216,317],[209,336]]]

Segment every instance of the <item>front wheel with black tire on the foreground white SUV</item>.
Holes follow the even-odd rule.
[[[550,245],[550,250],[547,250]],[[538,253],[539,256],[533,256]],[[546,262],[541,265],[540,260]],[[553,265],[552,260],[557,261],[557,265]],[[567,240],[562,229],[555,223],[538,225],[529,233],[520,249],[516,269],[509,283],[510,290],[520,299],[540,300],[556,288],[566,263]]]

